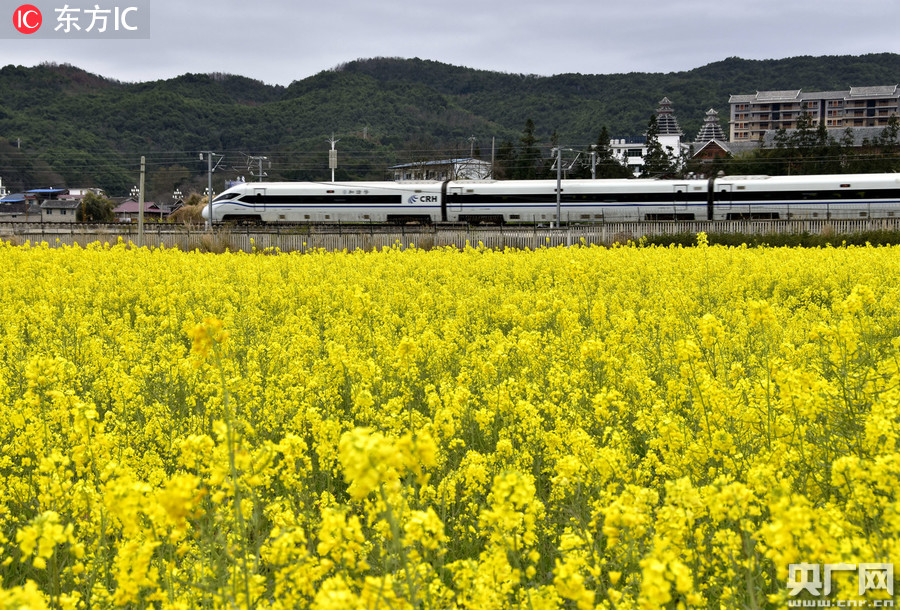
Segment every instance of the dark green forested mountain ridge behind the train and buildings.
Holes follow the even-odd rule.
[[[602,72],[603,66],[597,66]],[[248,155],[269,179],[326,179],[328,140],[339,139],[338,179],[383,179],[395,163],[518,142],[526,121],[547,150],[640,135],[668,97],[693,137],[706,111],[727,122],[732,94],[840,90],[900,82],[900,55],[729,58],[669,74],[539,77],[421,59],[358,60],[296,81],[185,74],[122,83],[73,66],[0,69],[0,178],[11,189],[65,184],[126,194],[147,157],[151,194],[202,190],[198,152],[225,154],[216,181],[252,179]],[[725,125],[723,124],[723,127]],[[268,164],[271,163],[271,166]],[[256,167],[254,165],[254,167]],[[216,189],[218,190],[218,188]]]

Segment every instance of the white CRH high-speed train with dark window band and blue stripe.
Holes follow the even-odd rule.
[[[557,185],[561,185],[557,197]],[[882,218],[900,215],[900,174],[691,180],[252,182],[212,202],[213,222],[590,223]],[[208,219],[209,206],[203,209]]]

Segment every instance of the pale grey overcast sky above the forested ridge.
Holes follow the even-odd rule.
[[[140,34],[149,38],[21,35],[9,22],[26,3],[43,14],[38,34],[59,26],[55,11],[66,6],[136,6],[144,19]],[[288,85],[371,57],[549,76],[677,72],[734,56],[900,52],[898,0],[0,0],[0,6],[6,9],[0,65],[69,63],[126,82],[227,72]]]

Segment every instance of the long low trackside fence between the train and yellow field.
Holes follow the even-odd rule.
[[[116,244],[151,248],[224,252],[308,252],[316,250],[380,250],[415,247],[484,247],[537,249],[542,247],[639,242],[643,237],[684,234],[852,235],[871,231],[900,231],[900,218],[853,220],[729,220],[607,222],[542,226],[395,226],[395,225],[276,225],[217,227],[147,224],[83,225],[50,223],[0,224],[0,240],[48,247]]]

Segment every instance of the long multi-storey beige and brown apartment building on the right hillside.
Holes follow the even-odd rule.
[[[848,91],[757,91],[732,95],[729,135],[731,142],[761,140],[767,131],[796,129],[803,113],[813,127],[826,129],[884,127],[900,115],[900,85],[851,87]]]

